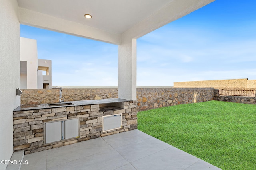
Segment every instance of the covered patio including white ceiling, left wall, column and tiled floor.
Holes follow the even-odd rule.
[[[136,101],[136,39],[213,1],[1,0],[0,160],[13,154],[13,110],[20,106],[20,24],[118,45],[118,98]],[[122,149],[124,145],[130,149]],[[33,163],[42,169],[108,169],[108,164],[109,169],[215,168],[138,130],[28,154],[26,159],[30,164],[21,168],[34,169],[26,168]],[[6,167],[1,164],[0,170]]]

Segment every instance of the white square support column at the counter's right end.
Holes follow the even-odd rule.
[[[118,46],[118,98],[137,100],[137,40]]]

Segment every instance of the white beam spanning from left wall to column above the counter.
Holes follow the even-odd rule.
[[[78,37],[94,39],[106,43],[120,44],[120,35],[89,27],[68,20],[63,20],[25,8],[19,8],[19,21],[21,24],[57,31]]]

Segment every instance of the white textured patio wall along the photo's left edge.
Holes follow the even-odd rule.
[[[0,0],[0,160],[13,153],[12,111],[20,105],[20,23],[16,0]],[[0,170],[6,169],[0,164]]]

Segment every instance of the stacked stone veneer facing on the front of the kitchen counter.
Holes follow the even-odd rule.
[[[124,102],[124,109],[99,112],[99,104],[13,112],[14,151],[25,154],[137,129],[137,103]],[[122,113],[122,128],[102,132],[102,116]],[[80,137],[44,145],[44,122],[80,118]]]

